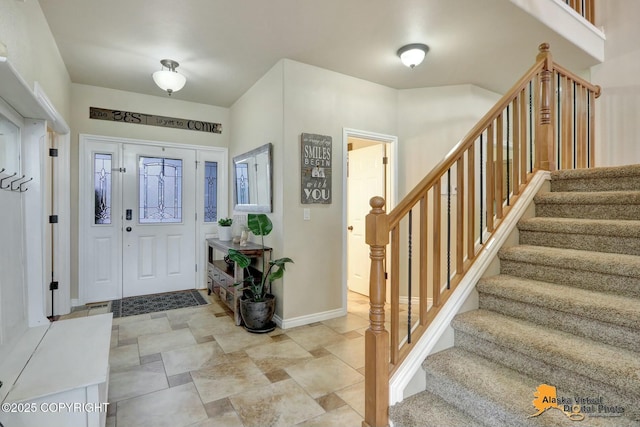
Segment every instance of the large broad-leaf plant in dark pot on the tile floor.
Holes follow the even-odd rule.
[[[248,214],[247,227],[255,236],[260,236],[264,248],[264,236],[273,230],[269,217],[265,214]],[[263,256],[262,274],[261,277],[256,277],[249,268],[249,257],[235,249],[229,249],[229,259],[242,268],[245,274],[244,280],[235,284],[242,286],[238,292],[243,292],[240,298],[240,315],[245,329],[256,333],[272,331],[275,328],[271,321],[275,313],[275,296],[271,293],[271,282],[284,276],[286,264],[293,260],[286,257],[272,259],[267,266]]]

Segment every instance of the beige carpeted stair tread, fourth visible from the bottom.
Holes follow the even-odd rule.
[[[578,315],[640,332],[640,299],[499,274],[483,278],[480,294]],[[482,296],[481,296],[482,299]]]

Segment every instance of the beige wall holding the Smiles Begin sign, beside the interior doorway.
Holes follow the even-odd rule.
[[[402,197],[498,97],[471,85],[397,91],[283,60],[238,100],[231,108],[230,156],[274,144],[275,231],[267,244],[274,256],[295,261],[275,286],[277,315],[296,323],[342,307],[344,128],[400,136]],[[331,204],[300,201],[302,133],[332,137]],[[305,208],[310,221],[303,219]]]

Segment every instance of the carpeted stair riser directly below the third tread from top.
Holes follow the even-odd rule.
[[[633,237],[520,230],[520,244],[640,255],[640,239]]]

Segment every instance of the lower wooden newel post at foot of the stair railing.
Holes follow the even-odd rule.
[[[371,248],[369,328],[365,332],[365,408],[363,427],[389,425],[389,332],[384,328],[386,281],[384,259],[389,243],[382,197],[373,197],[366,218],[366,242]]]

